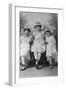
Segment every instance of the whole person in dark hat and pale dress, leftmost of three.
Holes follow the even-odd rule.
[[[26,62],[30,60],[30,29],[24,29],[24,35],[20,36],[20,62],[21,62],[21,70],[26,69]]]

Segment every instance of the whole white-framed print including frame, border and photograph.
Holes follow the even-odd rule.
[[[9,84],[62,82],[62,8],[11,4],[9,11]]]

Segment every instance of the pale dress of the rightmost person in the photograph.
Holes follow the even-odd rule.
[[[57,57],[56,41],[54,36],[46,37],[46,42],[48,43],[46,46],[46,56],[55,55]]]

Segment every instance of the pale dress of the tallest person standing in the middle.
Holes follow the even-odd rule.
[[[33,33],[34,41],[31,47],[32,52],[44,52],[45,51],[45,41],[44,41],[44,32],[35,31]]]

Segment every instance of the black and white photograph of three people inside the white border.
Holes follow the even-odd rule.
[[[58,14],[19,12],[19,78],[58,76]]]

